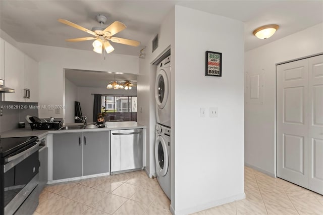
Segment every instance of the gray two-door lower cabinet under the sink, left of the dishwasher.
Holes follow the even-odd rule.
[[[110,170],[109,132],[53,135],[53,180]]]

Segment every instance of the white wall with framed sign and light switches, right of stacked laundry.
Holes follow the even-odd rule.
[[[222,77],[205,76],[207,50]],[[175,59],[175,214],[188,214],[245,197],[244,24],[175,6]]]

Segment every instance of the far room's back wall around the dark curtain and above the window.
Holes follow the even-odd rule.
[[[106,89],[95,87],[77,87],[78,101],[81,105],[83,116],[87,117],[88,122],[94,122],[93,120],[93,94],[106,94],[106,95],[137,95],[137,90],[133,87],[131,90],[125,89]]]

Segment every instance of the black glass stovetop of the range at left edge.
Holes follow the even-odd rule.
[[[0,156],[6,157],[21,148],[34,143],[37,139],[37,136],[0,138]]]

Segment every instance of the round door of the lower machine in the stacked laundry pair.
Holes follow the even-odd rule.
[[[168,171],[168,151],[164,138],[157,136],[155,144],[156,172],[159,176],[165,176]]]

